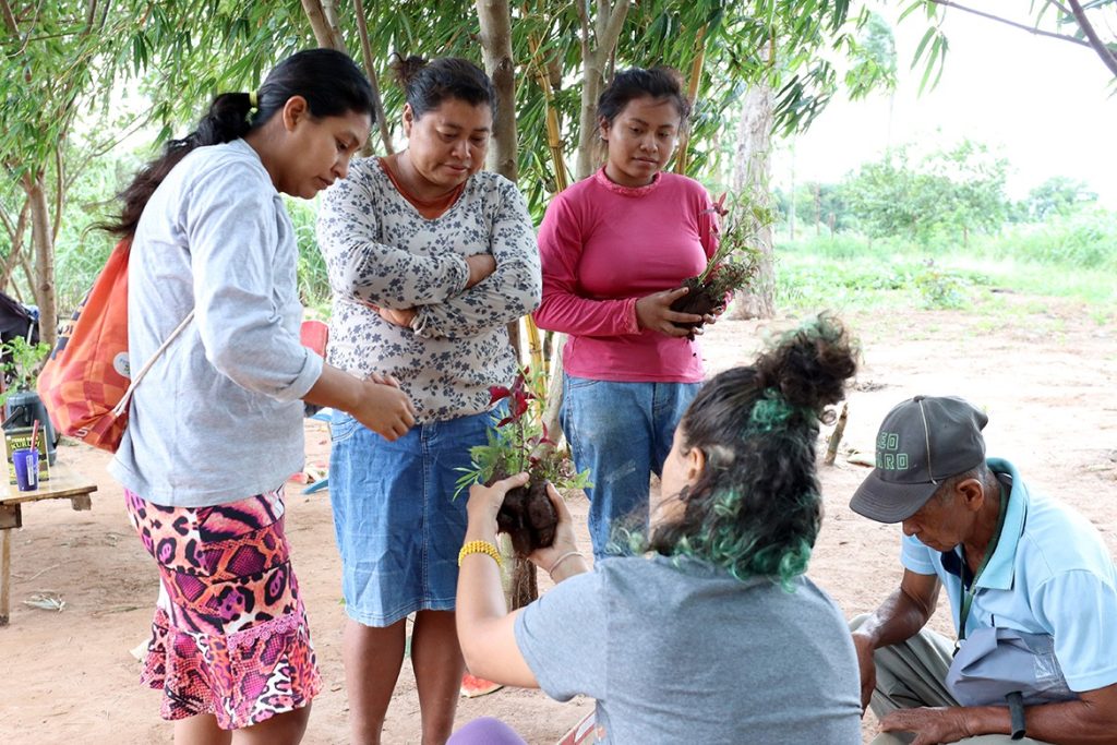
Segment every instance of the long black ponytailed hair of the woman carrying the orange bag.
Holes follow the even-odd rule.
[[[333,49],[299,51],[268,74],[256,93],[256,102],[248,93],[222,93],[214,98],[198,127],[181,140],[169,141],[163,154],[145,165],[120,193],[124,202],[120,218],[101,227],[123,238],[134,235],[147,200],[188,153],[244,137],[267,124],[293,96],[305,98],[311,116],[316,118],[350,112],[375,118],[372,87],[347,55]]]

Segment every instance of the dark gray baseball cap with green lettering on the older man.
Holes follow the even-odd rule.
[[[939,485],[985,460],[981,431],[989,417],[953,395],[917,395],[885,417],[877,433],[877,467],[849,503],[878,523],[914,515]]]

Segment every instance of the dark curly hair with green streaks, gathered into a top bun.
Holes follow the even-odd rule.
[[[840,322],[820,315],[754,365],[706,383],[679,423],[684,448],[700,449],[705,469],[679,495],[682,516],[658,526],[643,547],[790,588],[806,571],[822,522],[819,422],[832,417],[825,408],[856,372],[855,344]]]

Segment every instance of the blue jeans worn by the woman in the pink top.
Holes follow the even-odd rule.
[[[648,529],[648,487],[671,451],[675,428],[701,383],[619,383],[563,376],[562,429],[577,470],[590,469],[594,560],[627,553],[610,545],[614,525]]]

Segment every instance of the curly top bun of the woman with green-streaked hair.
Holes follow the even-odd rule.
[[[821,412],[846,397],[857,373],[857,344],[829,313],[802,323],[756,360],[757,388],[775,388],[796,407]]]

